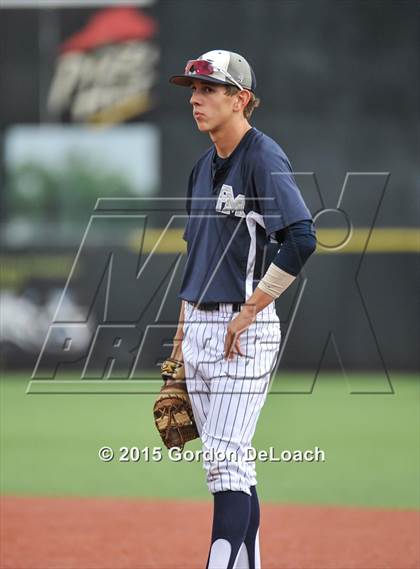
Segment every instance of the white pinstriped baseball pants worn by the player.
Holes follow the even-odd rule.
[[[256,484],[249,460],[257,420],[267,396],[280,348],[280,321],[274,302],[241,334],[243,356],[225,360],[231,304],[204,311],[184,303],[184,356],[187,388],[203,443],[203,467],[210,492],[241,490]],[[251,457],[252,458],[252,457]]]

